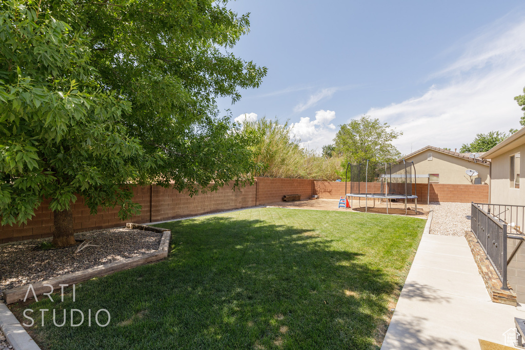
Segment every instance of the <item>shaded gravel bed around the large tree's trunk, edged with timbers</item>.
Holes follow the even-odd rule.
[[[78,246],[35,250],[42,239],[0,246],[0,291],[154,252],[159,249],[162,234],[113,228],[81,232],[75,238],[100,247],[87,247],[78,253]]]

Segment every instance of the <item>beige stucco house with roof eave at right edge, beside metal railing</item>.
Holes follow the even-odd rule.
[[[525,190],[520,188],[520,178],[525,176],[521,154],[525,155],[525,128],[484,153],[483,158],[491,163],[490,203],[525,205]]]

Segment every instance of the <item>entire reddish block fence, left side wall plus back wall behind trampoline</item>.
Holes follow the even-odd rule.
[[[360,184],[364,192],[365,183]],[[370,193],[379,193],[379,183],[368,183]],[[350,183],[347,186],[350,192]],[[419,203],[426,203],[427,185],[417,184]],[[246,208],[280,201],[283,195],[301,194],[302,199],[318,195],[324,199],[339,199],[344,196],[344,182],[314,181],[310,179],[256,178],[255,184],[235,191],[232,186],[220,188],[217,192],[190,197],[186,192],[179,193],[172,188],[160,186],[140,186],[134,189],[134,200],[142,205],[141,214],[127,221],[145,222],[170,220],[177,217],[211,213],[213,211]],[[487,203],[487,185],[430,185],[430,201],[460,201],[468,203]],[[53,212],[44,201],[35,210],[36,216],[21,226],[0,228],[0,243],[25,239],[44,238],[53,232]],[[118,208],[99,210],[97,215],[89,215],[83,198],[78,198],[72,207],[73,227],[76,232],[93,229],[124,226],[118,217]]]

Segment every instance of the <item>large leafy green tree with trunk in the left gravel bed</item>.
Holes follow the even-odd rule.
[[[215,99],[266,74],[228,51],[247,15],[211,1],[15,0],[0,16],[3,225],[49,198],[67,246],[78,195],[126,218],[135,184],[197,194],[246,181],[251,141]]]

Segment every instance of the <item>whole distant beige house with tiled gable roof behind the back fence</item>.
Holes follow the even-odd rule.
[[[417,174],[430,174],[431,184],[488,184],[490,162],[478,155],[426,146],[404,157],[414,162]],[[401,160],[402,161],[402,160]],[[473,170],[476,175],[468,175]],[[470,172],[472,173],[472,172]]]

